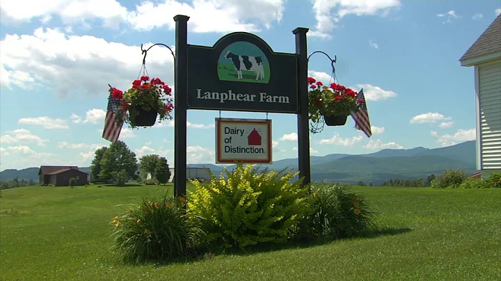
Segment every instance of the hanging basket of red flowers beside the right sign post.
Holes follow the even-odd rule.
[[[327,126],[342,126],[347,122],[348,115],[358,111],[363,102],[356,99],[357,93],[350,88],[331,83],[324,86],[321,81],[308,77],[310,92],[308,93],[308,117],[312,122],[310,131],[319,133]]]

